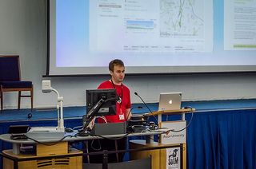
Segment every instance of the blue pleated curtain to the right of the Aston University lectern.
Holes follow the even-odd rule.
[[[187,168],[255,168],[255,122],[255,110],[194,113],[187,128]]]

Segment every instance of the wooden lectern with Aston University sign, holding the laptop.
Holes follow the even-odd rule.
[[[162,115],[177,115],[182,114],[182,120],[181,122],[186,122],[185,120],[185,114],[186,112],[192,112],[194,111],[194,108],[186,108],[186,109],[179,109],[179,110],[163,110],[163,111],[157,111],[150,113],[150,116],[158,115],[158,124],[162,126]],[[175,122],[172,122],[175,123]],[[186,132],[186,130],[185,130]],[[152,140],[151,138],[150,140]],[[175,168],[186,168],[186,140],[185,143],[175,143],[175,144],[166,144],[162,143],[162,140],[160,140],[160,143],[154,142],[154,141],[145,141],[145,140],[130,140],[130,149],[134,148],[146,148],[146,147],[164,147],[164,146],[174,146],[176,150],[179,150],[180,152],[179,156],[180,159],[169,159],[170,163],[178,163],[179,167]],[[171,155],[168,155],[166,152],[166,149],[157,149],[157,150],[150,150],[150,151],[136,151],[136,152],[130,152],[130,160],[134,159],[144,159],[147,157],[152,158],[151,160],[151,166],[154,169],[163,169],[167,168],[167,159],[170,158]],[[180,161],[177,161],[180,160]]]

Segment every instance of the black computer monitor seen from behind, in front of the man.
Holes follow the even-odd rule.
[[[99,100],[104,100],[101,108],[96,112],[96,116],[113,116],[116,115],[116,89],[93,89],[86,90],[86,112],[87,116],[90,116],[88,113],[91,112],[94,105],[98,104]]]

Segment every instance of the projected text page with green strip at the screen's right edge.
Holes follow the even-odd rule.
[[[256,1],[224,1],[224,49],[256,50]]]

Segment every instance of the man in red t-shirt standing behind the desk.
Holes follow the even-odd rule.
[[[116,105],[117,114],[114,116],[105,117],[106,120],[110,123],[125,122],[126,120],[129,120],[131,116],[130,90],[125,85],[122,85],[122,81],[125,77],[125,66],[121,60],[115,59],[113,61],[110,61],[109,69],[111,79],[99,85],[98,89],[115,88],[117,91],[117,95],[121,99],[117,102]],[[105,121],[101,118],[98,118],[98,123],[105,123]],[[89,143],[88,148],[89,152],[103,150],[115,151],[115,144],[117,144],[118,150],[126,150],[127,138],[125,137],[119,140],[94,140],[93,143]],[[100,147],[100,150],[96,150],[98,147]],[[117,161],[117,156],[115,154],[110,154],[108,156],[108,163],[122,162],[124,155],[125,153],[119,153]],[[90,156],[90,163],[102,163],[102,155]]]

